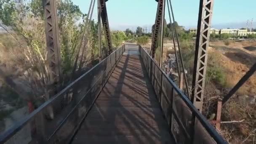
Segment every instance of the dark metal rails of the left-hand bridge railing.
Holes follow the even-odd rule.
[[[120,48],[116,49],[114,52],[112,52],[109,56],[107,56],[105,59],[103,59],[102,61],[100,61],[98,64],[96,64],[94,67],[92,67],[90,70],[88,70],[87,72],[85,72],[83,75],[81,75],[80,77],[78,77],[76,80],[74,80],[72,83],[70,83],[69,85],[67,85],[66,88],[64,88],[63,90],[61,90],[59,93],[57,93],[55,96],[53,96],[51,99],[49,99],[48,101],[46,101],[45,103],[43,103],[40,107],[38,107],[37,109],[35,109],[33,112],[31,112],[29,115],[25,116],[22,120],[20,120],[19,122],[15,123],[11,128],[9,128],[7,131],[5,131],[4,133],[2,133],[0,135],[0,144],[5,143],[6,141],[8,141],[12,136],[14,136],[18,131],[21,130],[21,128],[23,128],[25,125],[27,125],[27,123],[29,123],[32,118],[34,118],[37,114],[39,114],[40,112],[42,112],[44,109],[46,109],[48,106],[50,106],[51,103],[53,103],[53,101],[55,101],[56,99],[60,98],[61,96],[63,96],[68,90],[69,88],[72,88],[73,85],[75,85],[75,83],[77,83],[78,81],[82,80],[83,77],[85,77],[86,75],[88,75],[88,73],[90,73],[95,67],[98,67],[100,64],[102,64],[106,59],[108,59],[110,56],[112,56],[113,54],[115,54],[118,50],[122,49],[125,45],[121,46]],[[123,53],[123,51],[122,51]],[[105,70],[106,72],[106,70]],[[99,80],[99,79],[98,79]],[[97,80],[97,81],[98,81]],[[95,83],[97,83],[97,81]],[[95,83],[93,85],[95,85]],[[88,93],[89,91],[91,91],[91,88],[86,92]],[[86,94],[85,94],[86,96]],[[83,96],[84,98],[84,96]],[[78,104],[80,103],[80,101],[78,102]],[[77,106],[77,105],[76,105]],[[71,110],[71,112],[76,108],[76,106]],[[70,113],[67,115],[67,117],[70,115]],[[64,118],[63,122],[67,119],[67,117]],[[60,126],[63,124],[63,122],[61,122]],[[57,130],[59,129],[59,126],[57,127]],[[53,132],[53,134],[56,132],[56,130]],[[52,135],[50,136],[49,139],[51,139]]]

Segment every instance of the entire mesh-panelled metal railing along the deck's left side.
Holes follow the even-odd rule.
[[[63,144],[71,141],[124,51],[125,45],[13,125],[0,135],[0,144]]]

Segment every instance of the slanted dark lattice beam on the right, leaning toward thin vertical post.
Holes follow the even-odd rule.
[[[162,25],[162,19],[164,16],[164,9],[165,9],[165,0],[156,0],[158,2],[157,5],[157,15],[155,18],[155,27],[154,27],[154,32],[153,32],[153,37],[152,37],[152,45],[151,45],[151,55],[152,58],[155,58],[155,50],[156,50],[156,43],[158,39],[158,32],[161,25]],[[162,32],[162,31],[161,31]],[[161,34],[162,35],[162,34]]]

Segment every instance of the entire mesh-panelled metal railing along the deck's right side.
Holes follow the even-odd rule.
[[[141,45],[139,53],[176,143],[227,144]]]

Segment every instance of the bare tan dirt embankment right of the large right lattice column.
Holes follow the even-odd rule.
[[[211,42],[209,52],[221,53],[221,65],[226,75],[226,87],[232,88],[256,62],[256,42],[231,41],[225,45],[223,41]],[[256,95],[256,75],[243,85],[239,95]]]

